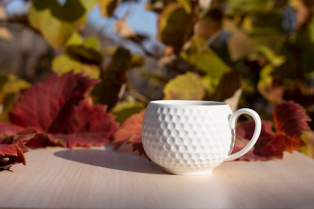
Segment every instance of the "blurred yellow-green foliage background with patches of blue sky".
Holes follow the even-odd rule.
[[[0,119],[33,83],[71,70],[101,80],[94,102],[119,122],[156,99],[225,101],[264,119],[293,100],[314,118],[313,14],[312,0],[1,0]]]

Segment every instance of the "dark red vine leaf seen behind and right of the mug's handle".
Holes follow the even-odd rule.
[[[273,110],[272,121],[262,120],[262,131],[254,149],[243,155],[245,160],[282,159],[283,151],[292,152],[305,145],[301,134],[309,129],[310,118],[303,107],[292,101],[283,102]],[[236,128],[234,152],[242,149],[254,131],[254,121],[247,120]],[[273,130],[274,126],[274,130]]]

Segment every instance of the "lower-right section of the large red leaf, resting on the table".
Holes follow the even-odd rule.
[[[101,146],[110,142],[118,128],[113,119],[112,114],[106,113],[106,106],[93,105],[88,98],[75,107],[75,114],[69,116],[65,129],[58,134],[49,134],[49,139],[67,147]]]

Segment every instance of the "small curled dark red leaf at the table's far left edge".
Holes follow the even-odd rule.
[[[35,134],[12,135],[0,140],[0,170],[8,170],[12,165],[26,164],[24,153],[28,148],[24,145]]]

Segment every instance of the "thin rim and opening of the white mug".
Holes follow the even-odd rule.
[[[150,101],[152,104],[160,105],[180,105],[180,106],[218,106],[218,105],[228,105],[225,102],[217,101],[204,101],[204,100],[154,100]]]

